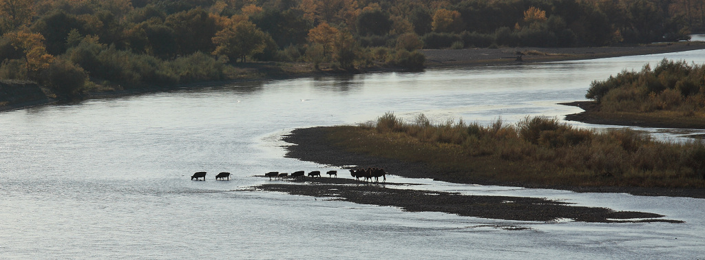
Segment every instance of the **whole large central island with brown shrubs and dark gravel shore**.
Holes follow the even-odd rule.
[[[382,167],[391,175],[578,192],[705,197],[702,142],[651,140],[634,130],[584,130],[549,118],[515,125],[388,113],[376,125],[295,130],[287,156],[336,166]]]

